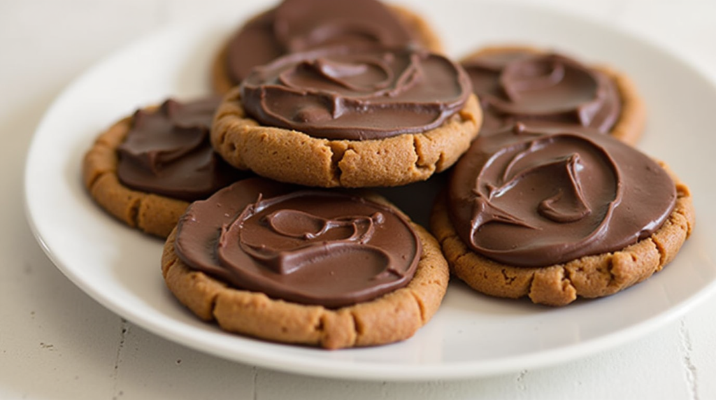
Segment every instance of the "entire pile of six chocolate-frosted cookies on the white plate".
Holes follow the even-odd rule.
[[[646,113],[627,77],[531,47],[441,51],[408,9],[284,0],[228,38],[216,97],[120,120],[84,182],[165,238],[165,282],[196,316],[285,343],[410,338],[450,273],[563,306],[674,258],[690,193],[632,147]],[[425,180],[442,186],[432,234],[376,192]]]

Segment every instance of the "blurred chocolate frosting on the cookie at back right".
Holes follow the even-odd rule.
[[[558,54],[515,50],[465,60],[483,107],[480,135],[517,121],[551,121],[606,133],[621,112],[616,84],[604,72]]]

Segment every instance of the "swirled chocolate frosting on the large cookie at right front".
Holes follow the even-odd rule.
[[[594,130],[538,122],[478,137],[449,186],[463,242],[531,267],[632,245],[661,227],[675,201],[674,182],[641,152]]]

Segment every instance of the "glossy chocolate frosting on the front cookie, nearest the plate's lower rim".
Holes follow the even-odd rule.
[[[383,205],[251,178],[190,205],[175,250],[236,288],[338,308],[407,285],[421,245]]]

